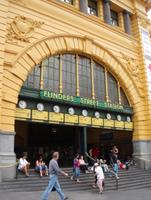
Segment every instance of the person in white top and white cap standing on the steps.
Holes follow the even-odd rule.
[[[94,171],[95,171],[95,174],[96,174],[96,177],[97,177],[97,186],[100,190],[100,194],[102,194],[104,173],[103,173],[102,167],[100,167],[98,163],[95,163],[94,167],[95,167]]]

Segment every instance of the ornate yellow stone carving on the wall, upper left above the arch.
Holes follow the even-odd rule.
[[[35,21],[33,19],[16,16],[8,26],[7,39],[8,40],[21,40],[29,42],[29,38],[32,36],[34,29],[41,27],[43,22]]]

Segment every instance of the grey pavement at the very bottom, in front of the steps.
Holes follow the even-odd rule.
[[[40,200],[42,192],[0,192],[0,200]],[[65,192],[69,200],[151,200],[151,188],[130,191]],[[49,195],[49,200],[59,200],[56,192]]]

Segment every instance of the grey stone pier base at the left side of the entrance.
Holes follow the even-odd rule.
[[[16,155],[14,153],[15,133],[0,131],[1,179],[12,179],[16,175]]]

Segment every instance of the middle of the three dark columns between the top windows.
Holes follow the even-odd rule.
[[[103,0],[103,12],[104,12],[104,21],[107,24],[111,24],[110,0]]]

